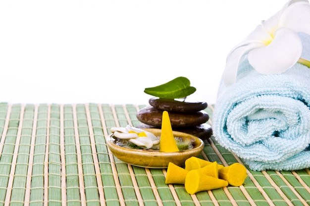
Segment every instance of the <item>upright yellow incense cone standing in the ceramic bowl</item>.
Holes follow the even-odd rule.
[[[178,152],[179,148],[173,136],[172,127],[167,111],[163,111],[161,120],[160,152]]]

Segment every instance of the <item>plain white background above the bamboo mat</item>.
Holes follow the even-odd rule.
[[[215,103],[232,47],[286,0],[1,0],[0,102],[147,104],[184,76]]]

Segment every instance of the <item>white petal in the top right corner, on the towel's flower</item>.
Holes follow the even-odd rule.
[[[291,4],[284,10],[279,27],[288,27],[295,32],[310,34],[310,4],[308,1],[299,1]]]

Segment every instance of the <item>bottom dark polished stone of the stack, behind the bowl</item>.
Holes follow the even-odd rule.
[[[137,128],[158,128],[160,129],[160,127],[157,126],[151,126],[148,124],[139,124],[137,126]],[[211,137],[213,134],[212,131],[212,127],[205,123],[205,124],[200,124],[197,126],[190,126],[190,127],[176,127],[176,128],[172,128],[174,131],[180,131],[180,132],[184,132],[184,133],[188,133],[194,136],[199,137],[202,140],[206,140],[207,138]]]

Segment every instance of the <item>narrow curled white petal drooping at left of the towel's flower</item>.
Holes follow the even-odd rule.
[[[226,67],[223,72],[223,82],[226,86],[230,86],[236,82],[239,64],[242,58],[252,49],[265,46],[261,42],[249,42],[235,47],[227,56]]]

